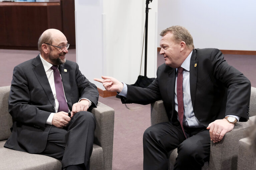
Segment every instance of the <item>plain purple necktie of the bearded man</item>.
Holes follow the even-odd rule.
[[[61,77],[57,67],[58,66],[52,66],[51,69],[53,70],[56,96],[59,102],[58,112],[59,111],[68,112],[68,106],[67,106],[67,102],[65,99],[64,91],[63,91],[63,85],[62,85]]]

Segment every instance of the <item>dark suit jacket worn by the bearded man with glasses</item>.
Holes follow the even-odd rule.
[[[92,107],[96,107],[97,87],[81,74],[78,65],[66,61],[59,70],[69,110],[79,98],[89,99]],[[4,146],[29,153],[42,152],[51,128],[46,120],[55,109],[53,93],[39,55],[14,68],[9,112],[14,123]]]

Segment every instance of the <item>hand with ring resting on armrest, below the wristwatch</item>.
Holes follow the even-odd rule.
[[[219,119],[210,123],[207,129],[210,129],[210,137],[213,143],[220,142],[224,135],[234,128],[233,123],[229,123],[227,119]]]

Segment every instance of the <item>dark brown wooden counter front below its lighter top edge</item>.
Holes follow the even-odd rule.
[[[44,30],[62,30],[62,16],[55,15],[60,13],[60,6],[9,6],[3,11],[4,25],[0,27],[0,46],[36,47]]]

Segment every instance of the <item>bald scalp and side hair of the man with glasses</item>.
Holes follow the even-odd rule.
[[[42,35],[38,39],[38,50],[41,52],[42,44],[52,44],[52,42],[55,40],[55,38],[59,36],[64,36],[64,34],[56,29],[48,29],[45,30]],[[65,37],[65,36],[64,36]]]

